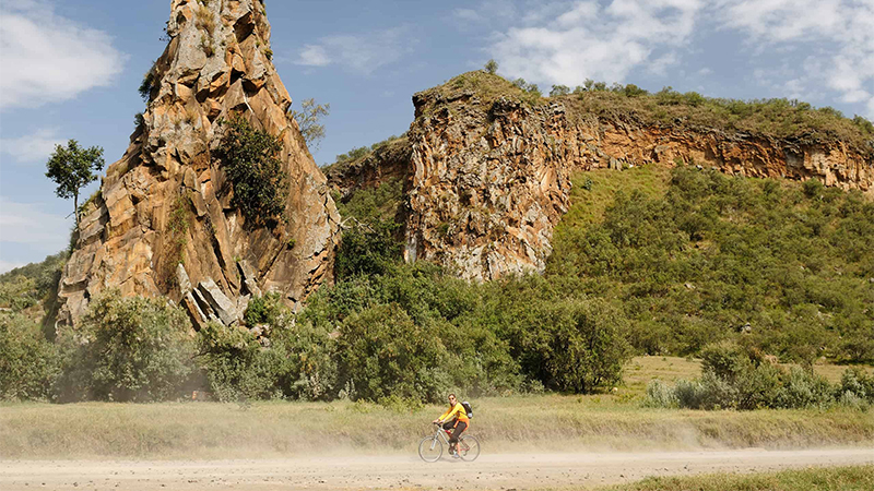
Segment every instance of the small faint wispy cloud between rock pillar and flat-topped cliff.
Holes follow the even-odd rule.
[[[317,44],[305,45],[295,63],[306,67],[338,64],[354,72],[369,74],[400,60],[411,52],[413,44],[415,39],[408,27],[361,35],[326,36],[319,38]]]

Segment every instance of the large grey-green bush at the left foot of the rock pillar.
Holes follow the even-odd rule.
[[[172,400],[191,382],[191,325],[163,300],[106,291],[61,342],[66,400]]]

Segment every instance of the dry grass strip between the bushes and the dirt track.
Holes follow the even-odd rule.
[[[830,379],[839,367],[819,367]],[[694,378],[699,363],[638,357],[626,385],[593,396],[513,395],[474,399],[471,432],[489,452],[695,450],[870,445],[874,412],[694,411],[640,407],[652,378]],[[463,396],[463,395],[462,395]],[[439,406],[167,403],[0,405],[0,458],[245,458],[351,448],[412,452]]]

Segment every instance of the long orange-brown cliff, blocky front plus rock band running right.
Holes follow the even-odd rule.
[[[623,120],[581,112],[570,104],[576,96],[567,97],[542,99],[494,75],[461,75],[413,97],[405,171],[398,166],[408,159],[374,158],[330,175],[331,185],[346,195],[378,185],[381,175],[403,176],[406,260],[436,261],[475,280],[544,268],[577,171],[695,164],[819,179],[874,196],[872,152],[839,139]]]

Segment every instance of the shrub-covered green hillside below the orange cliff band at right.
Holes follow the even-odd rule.
[[[546,276],[624,312],[640,352],[743,336],[784,361],[874,360],[874,203],[815,180],[677,168],[662,197],[617,192],[559,227]]]

